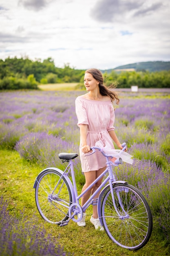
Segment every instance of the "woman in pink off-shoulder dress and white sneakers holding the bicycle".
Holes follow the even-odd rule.
[[[89,156],[86,155],[91,151],[91,146],[95,146],[95,143],[100,140],[104,146],[107,141],[107,145],[114,149],[114,141],[118,148],[122,149],[113,127],[115,121],[113,101],[116,100],[116,103],[119,104],[118,94],[108,90],[103,83],[103,76],[99,70],[86,70],[84,85],[88,93],[77,97],[75,100],[77,125],[80,128],[80,159],[86,179],[82,192],[106,169],[106,158],[100,152]],[[93,194],[101,183],[102,178],[92,190],[84,194],[81,201],[82,205],[85,204],[91,193]],[[99,193],[97,193],[96,198],[98,196]],[[86,213],[84,212],[82,220],[77,222],[78,226],[84,227],[86,225],[85,216]],[[93,205],[93,215],[90,221],[95,226],[95,229],[103,230],[97,214],[97,205]]]

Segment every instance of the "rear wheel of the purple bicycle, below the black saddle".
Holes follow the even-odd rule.
[[[68,219],[68,208],[72,203],[68,182],[64,177],[60,178],[61,173],[58,171],[45,171],[35,188],[35,202],[40,215],[47,222],[57,225]]]

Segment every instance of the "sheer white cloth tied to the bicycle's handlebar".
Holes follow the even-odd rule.
[[[131,159],[132,155],[128,154],[127,152],[124,152],[120,149],[112,149],[110,148],[109,144],[106,141],[106,145],[104,146],[103,142],[101,140],[97,141],[95,144],[96,147],[102,148],[105,154],[111,155],[115,158],[121,158],[123,162],[126,162],[128,164],[133,164],[133,159]]]

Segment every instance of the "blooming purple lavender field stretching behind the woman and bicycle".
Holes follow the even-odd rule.
[[[64,168],[60,152],[79,153],[75,99],[82,92],[18,91],[0,93],[0,148],[17,150],[42,168]],[[169,94],[123,92],[114,105],[117,137],[128,145],[134,164],[115,171],[137,186],[154,217],[155,234],[170,243],[170,97]],[[84,175],[75,159],[77,183]],[[36,175],[35,175],[36,176]]]

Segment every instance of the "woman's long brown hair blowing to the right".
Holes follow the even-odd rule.
[[[97,70],[96,68],[91,68],[89,70],[86,70],[86,73],[90,73],[94,79],[96,79],[99,82],[99,91],[102,96],[109,96],[111,101],[114,101],[116,99],[116,104],[119,104],[119,95],[117,92],[109,90],[105,85],[104,85],[104,79],[102,72],[100,70]],[[115,89],[116,86],[112,86],[111,88]]]

